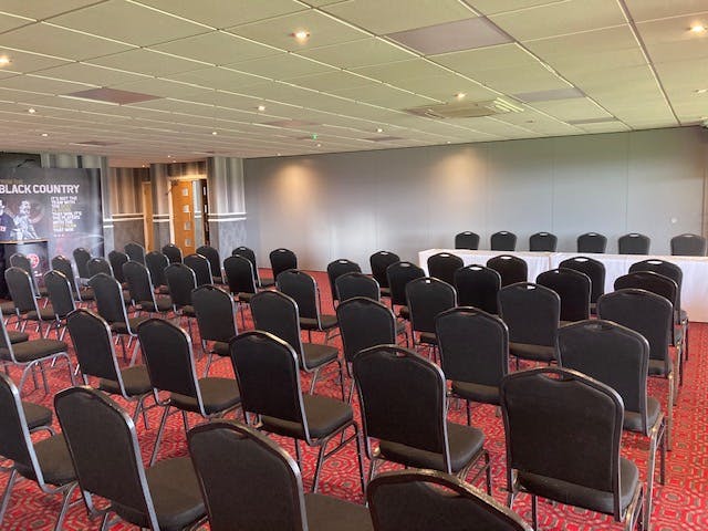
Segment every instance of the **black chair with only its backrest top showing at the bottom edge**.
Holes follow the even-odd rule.
[[[449,473],[379,473],[366,490],[375,531],[532,531],[521,517]]]

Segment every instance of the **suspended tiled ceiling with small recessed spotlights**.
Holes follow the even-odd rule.
[[[700,24],[708,0],[2,0],[0,149],[135,166],[695,125]],[[404,111],[458,94],[522,111]]]

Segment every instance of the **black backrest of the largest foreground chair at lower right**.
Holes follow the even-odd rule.
[[[614,493],[620,514],[620,395],[575,371],[545,367],[501,382],[507,478],[514,470]],[[581,442],[582,441],[582,442]]]

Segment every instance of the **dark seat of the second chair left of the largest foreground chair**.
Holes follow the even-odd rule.
[[[326,437],[354,418],[348,404],[320,395],[302,395],[310,436],[316,439]],[[263,428],[273,434],[304,439],[302,424],[275,417],[261,417]]]

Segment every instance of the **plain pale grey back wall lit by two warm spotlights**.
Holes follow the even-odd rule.
[[[559,250],[626,232],[668,253],[671,236],[702,232],[708,134],[698,127],[246,160],[247,238],[259,261],[278,247],[324,269],[393,250],[417,261],[461,230],[510,230],[518,250],[548,230]]]

